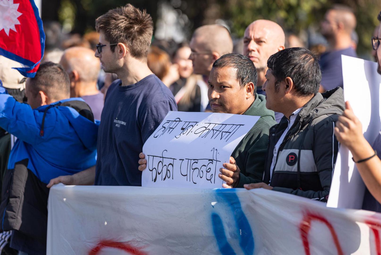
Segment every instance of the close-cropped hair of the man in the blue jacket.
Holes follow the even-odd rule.
[[[31,91],[37,95],[44,91],[50,98],[58,99],[70,96],[70,79],[60,64],[45,62],[40,64],[34,78],[30,78]]]

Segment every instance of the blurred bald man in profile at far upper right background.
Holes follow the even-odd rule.
[[[319,92],[343,88],[341,55],[357,57],[351,38],[356,28],[356,17],[351,8],[334,5],[327,11],[320,26],[321,33],[328,42],[328,51],[320,57],[322,82]]]

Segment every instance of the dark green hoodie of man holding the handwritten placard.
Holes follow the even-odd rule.
[[[277,124],[274,112],[266,108],[264,95],[255,94],[254,102],[243,114],[260,118],[232,153],[240,169],[239,182],[234,188],[243,188],[243,184],[255,183],[255,179],[262,180],[269,145],[269,130]]]

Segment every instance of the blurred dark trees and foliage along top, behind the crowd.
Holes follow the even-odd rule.
[[[154,19],[155,29],[160,28],[160,31],[174,30],[167,23],[177,22],[176,27],[183,34],[177,40],[189,40],[195,28],[214,23],[224,24],[233,37],[241,38],[252,21],[270,19],[279,23],[285,32],[306,38],[306,42],[309,31],[319,29],[325,11],[331,5],[345,4],[354,10],[357,18],[360,56],[370,54],[370,37],[379,24],[377,14],[381,10],[381,0],[42,0],[42,19],[59,21],[64,32],[82,35],[94,30],[98,16],[126,3],[146,9]],[[171,19],[166,17],[168,10],[173,12]],[[158,34],[168,37],[168,32]]]

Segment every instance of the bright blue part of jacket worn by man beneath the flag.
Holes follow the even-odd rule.
[[[81,98],[69,98],[51,105]],[[43,183],[61,175],[72,175],[96,164],[99,122],[91,122],[67,106],[32,109],[19,103],[0,85],[0,127],[16,136],[8,160],[8,169],[29,159],[27,168]]]

